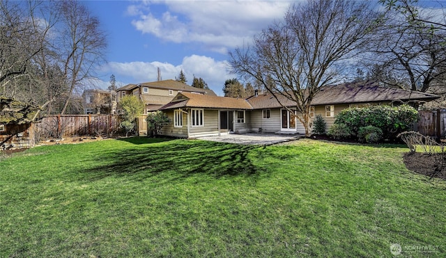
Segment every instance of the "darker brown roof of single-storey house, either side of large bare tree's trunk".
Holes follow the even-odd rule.
[[[277,96],[285,106],[293,106],[295,103],[284,96]],[[319,91],[312,105],[328,105],[328,104],[354,104],[365,102],[409,102],[424,101],[429,102],[438,99],[440,96],[425,92],[417,92],[412,90],[402,90],[399,88],[385,88],[374,84],[357,85],[357,84],[340,84],[336,86],[326,86]],[[281,105],[277,99],[271,94],[250,97],[248,102],[257,108],[279,108]]]

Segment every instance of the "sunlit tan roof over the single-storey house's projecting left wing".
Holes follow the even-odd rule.
[[[245,99],[235,97],[218,97],[181,92],[160,110],[174,108],[228,108],[228,109],[252,109]]]

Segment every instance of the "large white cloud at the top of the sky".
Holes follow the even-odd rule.
[[[131,6],[137,16],[133,26],[170,42],[198,42],[207,49],[226,54],[252,36],[282,19],[289,1],[165,1],[167,11],[153,13],[147,8],[160,2]]]

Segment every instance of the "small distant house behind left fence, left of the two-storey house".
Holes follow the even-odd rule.
[[[116,92],[114,90],[84,90],[82,104],[85,114],[115,114]]]

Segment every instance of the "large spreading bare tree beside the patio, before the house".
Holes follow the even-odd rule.
[[[339,79],[338,65],[360,53],[379,17],[367,1],[293,4],[283,22],[264,29],[252,46],[230,53],[233,72],[253,76],[291,114],[297,110],[295,116],[309,136],[314,96]]]

